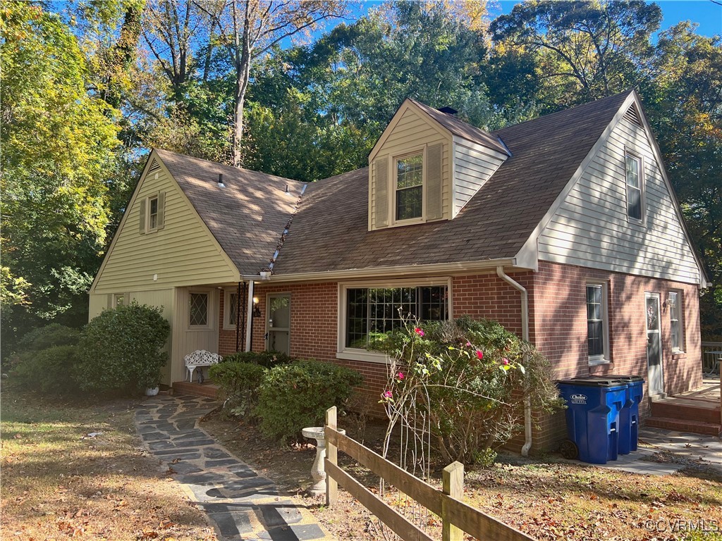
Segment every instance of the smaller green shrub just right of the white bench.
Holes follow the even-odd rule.
[[[260,364],[224,362],[214,364],[209,374],[227,401],[226,406],[235,415],[252,414],[258,403],[258,387],[266,368]]]

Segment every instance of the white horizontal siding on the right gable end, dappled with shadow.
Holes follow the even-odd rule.
[[[625,149],[643,163],[643,223],[627,219]],[[642,126],[622,118],[539,236],[539,259],[699,283],[700,271]]]

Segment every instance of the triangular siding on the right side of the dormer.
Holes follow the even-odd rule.
[[[453,214],[456,216],[484,182],[499,169],[506,157],[466,139],[453,139]]]

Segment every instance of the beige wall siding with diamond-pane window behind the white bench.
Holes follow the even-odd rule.
[[[202,330],[189,330],[190,292],[208,293],[208,327]],[[219,289],[215,288],[178,288],[175,289],[175,326],[173,328],[173,353],[170,359],[171,382],[186,379],[186,366],[183,358],[198,349],[218,353]],[[193,379],[195,381],[195,378]]]

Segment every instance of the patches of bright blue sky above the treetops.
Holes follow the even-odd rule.
[[[497,9],[492,9],[493,16],[511,11],[515,0],[497,1]],[[676,25],[679,21],[690,20],[697,22],[700,26],[697,32],[701,35],[713,36],[722,35],[722,6],[711,0],[658,0],[656,2],[662,9],[664,19],[661,30]],[[365,0],[362,12],[366,12],[371,6],[380,4],[380,0]]]

